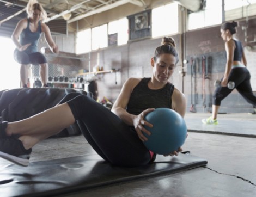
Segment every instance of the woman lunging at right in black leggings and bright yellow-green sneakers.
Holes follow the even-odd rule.
[[[246,68],[247,61],[242,44],[234,38],[237,22],[225,22],[221,26],[221,37],[225,41],[225,52],[227,63],[225,64],[224,76],[221,79],[221,87],[216,88],[213,96],[212,115],[208,119],[203,119],[204,124],[217,125],[217,114],[221,101],[227,97],[234,88],[242,95],[248,103],[256,106],[256,97],[253,95],[251,87],[251,75]],[[235,87],[229,89],[228,82],[234,82]]]

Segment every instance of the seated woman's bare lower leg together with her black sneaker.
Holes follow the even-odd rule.
[[[27,166],[35,144],[74,123],[74,116],[67,103],[21,121],[2,123],[1,128],[6,128],[0,131],[0,157]],[[20,137],[17,139],[13,135]]]

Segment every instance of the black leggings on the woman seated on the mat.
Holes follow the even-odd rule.
[[[111,110],[86,95],[70,93],[60,103],[67,102],[80,125],[83,136],[106,161],[124,167],[138,167],[150,162],[149,150],[133,127]]]

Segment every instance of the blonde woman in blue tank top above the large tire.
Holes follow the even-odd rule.
[[[11,39],[16,48],[14,59],[20,64],[20,80],[23,88],[27,87],[29,64],[40,65],[40,78],[43,87],[48,87],[48,64],[44,54],[38,51],[38,40],[45,34],[47,44],[54,53],[58,53],[58,46],[52,39],[49,27],[42,21],[47,19],[47,13],[38,1],[27,4],[28,17],[21,19],[14,29]]]

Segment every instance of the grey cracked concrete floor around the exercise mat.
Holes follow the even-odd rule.
[[[191,155],[208,160],[176,174],[113,184],[65,196],[256,196],[256,115],[220,114],[219,125],[203,125],[210,114],[190,113],[185,120],[188,138],[183,146]],[[50,138],[37,144],[31,161],[91,155],[82,136]],[[9,162],[0,159],[0,168]],[[63,195],[62,195],[63,196]]]

